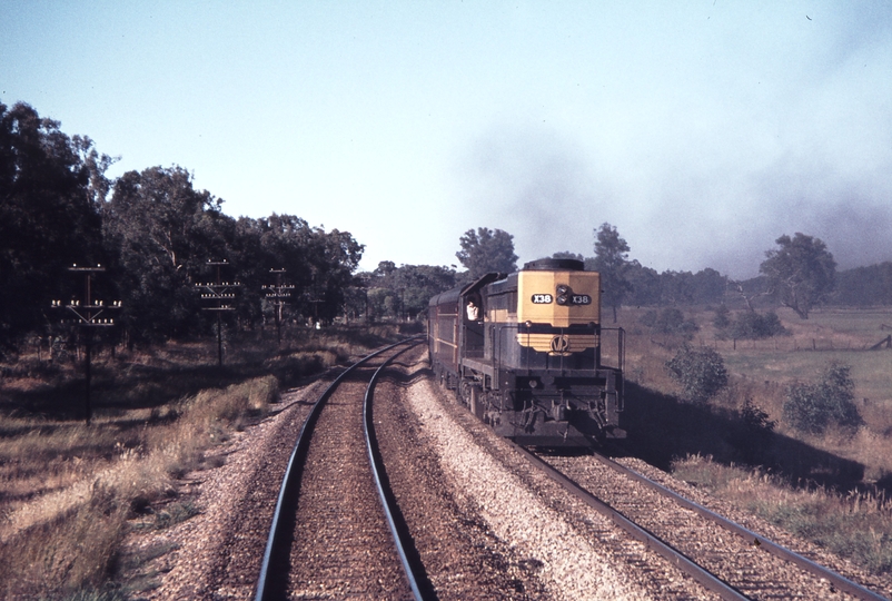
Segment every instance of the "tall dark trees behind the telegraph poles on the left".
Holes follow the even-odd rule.
[[[29,105],[0,104],[0,351],[66,317],[50,299],[81,298],[72,265],[105,267],[93,297],[121,300],[117,329],[131,343],[207,331],[196,284],[214,279],[211,260],[227,260],[224,278],[241,284],[232,306],[242,327],[271,316],[262,290],[276,282],[270,269],[286,269],[296,286],[293,315],[340,313],[364,249],[349,233],[294,215],[234,218],[182,167],[112,180],[115,161]]]

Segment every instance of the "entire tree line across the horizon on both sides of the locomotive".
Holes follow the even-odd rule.
[[[226,259],[225,278],[241,283],[232,305],[242,327],[271,317],[262,290],[275,283],[271,269],[286,269],[285,280],[295,285],[291,318],[323,322],[338,315],[415,319],[439,292],[517,269],[514,237],[478,227],[458,240],[464,272],[381,262],[356,274],[364,245],[347,231],[325,231],[294,215],[234,218],[222,213],[221,199],[196,189],[182,167],[150,167],[112,180],[106,174],[115,161],[90,138],[67,136],[29,105],[0,104],[0,349],[58,321],[48,299],[79,295],[80,284],[68,273],[72,264],[106,267],[97,297],[122,302],[117,319],[135,343],[207,329],[195,285],[212,278],[209,260]],[[657,273],[630,260],[630,245],[607,223],[594,230],[594,256],[553,256],[577,258],[602,274],[603,302],[614,321],[622,306],[721,305],[729,290],[751,313],[753,300],[764,297],[802,318],[822,303],[892,303],[892,263],[838,274],[817,238],[796,233],[776,245],[766,250],[762,275],[746,282],[712,268]],[[753,326],[747,324],[741,327]]]

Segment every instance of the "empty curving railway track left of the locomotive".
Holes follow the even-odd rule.
[[[410,542],[407,552],[367,408],[381,368],[417,344],[357,362],[316,402],[283,479],[256,600],[423,598],[420,562]]]

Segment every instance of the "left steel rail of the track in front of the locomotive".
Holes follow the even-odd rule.
[[[511,443],[514,444],[514,443]],[[656,535],[651,533],[648,530],[640,526],[625,515],[623,515],[620,511],[612,508],[605,501],[602,501],[591,492],[586,491],[578,484],[576,484],[573,480],[561,473],[558,470],[554,469],[552,465],[543,461],[542,459],[534,455],[532,452],[527,451],[525,447],[516,445],[515,447],[522,451],[523,455],[536,467],[545,472],[548,477],[564,486],[571,494],[579,499],[583,503],[587,504],[588,506],[595,509],[606,518],[608,518],[614,524],[623,529],[633,538],[637,539],[642,543],[644,543],[647,549],[653,550],[658,555],[664,558],[665,560],[673,563],[680,570],[688,574],[700,584],[702,584],[707,590],[714,592],[722,599],[727,601],[742,601],[749,599],[745,594],[741,591],[725,582],[724,580],[720,579],[712,572],[706,571],[703,566],[695,563],[691,558],[675,549],[674,546],[670,545],[662,539],[658,539]]]

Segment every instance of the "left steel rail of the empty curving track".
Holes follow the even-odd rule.
[[[295,443],[294,450],[291,451],[291,456],[288,459],[288,466],[285,470],[285,476],[281,480],[281,487],[279,489],[279,496],[276,501],[276,511],[272,513],[272,522],[269,528],[269,538],[267,539],[266,550],[264,552],[264,562],[260,566],[260,577],[257,579],[257,593],[255,594],[255,601],[270,601],[274,599],[274,592],[269,591],[267,583],[269,580],[269,564],[272,560],[272,554],[275,552],[276,545],[278,540],[281,538],[279,533],[279,524],[281,523],[281,513],[285,510],[288,501],[290,500],[295,487],[295,484],[300,477],[300,470],[303,464],[307,457],[307,450],[309,449],[309,439],[310,433],[313,432],[313,426],[316,424],[316,421],[319,417],[319,413],[321,413],[323,406],[325,402],[331,396],[331,393],[335,392],[340,383],[350,374],[355,368],[359,367],[360,365],[366,364],[370,359],[377,357],[378,355],[390,351],[392,348],[399,346],[400,344],[406,344],[407,342],[414,341],[415,338],[408,338],[406,341],[400,341],[398,343],[394,343],[389,346],[385,346],[361,359],[357,361],[349,367],[347,367],[344,372],[338,375],[331,384],[319,395],[319,398],[313,405],[309,414],[307,415],[306,420],[304,420],[304,424],[300,426],[300,432],[297,435],[297,442]]]

